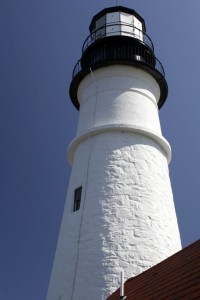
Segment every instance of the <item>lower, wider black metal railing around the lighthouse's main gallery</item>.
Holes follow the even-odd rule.
[[[80,71],[89,68],[99,63],[132,63],[147,65],[165,77],[165,71],[161,62],[150,51],[142,49],[141,47],[131,45],[112,45],[112,47],[99,47],[92,49],[89,56],[82,57],[74,67],[72,78],[74,78]]]

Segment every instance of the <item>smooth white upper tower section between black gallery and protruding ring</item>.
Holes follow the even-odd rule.
[[[161,135],[159,98],[158,84],[142,70],[122,65],[98,69],[78,89],[77,135],[108,124],[135,125]]]

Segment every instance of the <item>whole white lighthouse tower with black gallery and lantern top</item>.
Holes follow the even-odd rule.
[[[181,249],[162,64],[143,18],[116,6],[92,19],[70,96],[79,110],[72,173],[47,300],[101,300]],[[105,298],[104,298],[105,297]]]

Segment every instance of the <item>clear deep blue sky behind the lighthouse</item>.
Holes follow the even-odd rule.
[[[183,246],[200,233],[200,1],[118,0],[146,21],[169,84],[161,109]],[[91,18],[114,0],[0,2],[0,300],[44,300],[78,113],[68,87]]]

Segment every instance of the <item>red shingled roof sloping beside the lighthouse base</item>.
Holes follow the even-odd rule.
[[[125,282],[127,300],[200,299],[200,240]],[[116,290],[107,300],[119,300]]]

